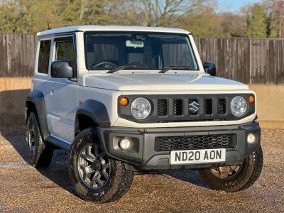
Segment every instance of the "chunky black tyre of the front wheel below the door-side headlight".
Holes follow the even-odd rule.
[[[133,172],[126,170],[124,163],[113,158],[109,158],[111,170],[109,172],[109,179],[100,189],[88,187],[82,180],[78,168],[78,158],[80,158],[80,151],[88,143],[94,143],[94,146],[101,146],[97,130],[94,128],[84,129],[75,136],[69,152],[69,176],[72,185],[75,187],[77,195],[83,200],[95,203],[113,202],[119,200],[128,192],[133,180]]]

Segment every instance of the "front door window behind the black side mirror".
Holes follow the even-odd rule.
[[[72,38],[58,38],[56,40],[55,60],[64,60],[70,62],[75,69],[75,49]]]

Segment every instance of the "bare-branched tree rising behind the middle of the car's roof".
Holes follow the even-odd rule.
[[[212,0],[124,0],[112,1],[124,19],[119,23],[143,26],[173,26],[181,16],[191,13]]]

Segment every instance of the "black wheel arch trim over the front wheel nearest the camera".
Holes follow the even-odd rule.
[[[111,121],[107,107],[97,100],[88,99],[78,107],[75,118],[75,135],[80,132],[79,116],[84,115],[92,119],[95,126],[109,126]]]

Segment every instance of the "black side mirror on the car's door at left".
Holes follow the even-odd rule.
[[[54,61],[51,63],[51,77],[72,78],[74,76],[73,67],[68,61]]]

